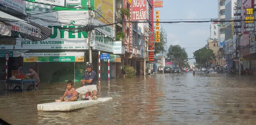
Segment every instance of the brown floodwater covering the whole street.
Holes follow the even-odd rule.
[[[3,91],[0,118],[12,125],[254,125],[256,78],[196,72],[154,74],[97,83],[112,101],[73,111],[38,112],[54,102],[66,82],[40,83],[38,91]],[[80,83],[75,83],[75,88]]]

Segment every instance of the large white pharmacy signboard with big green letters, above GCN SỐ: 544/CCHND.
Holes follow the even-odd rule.
[[[42,1],[42,0],[41,0]],[[44,0],[46,2],[46,0]],[[88,0],[80,1],[81,6],[87,6]],[[63,2],[63,1],[61,1]],[[64,3],[64,2],[63,2]],[[27,6],[29,9],[28,14],[42,13],[40,7],[42,4]],[[94,2],[91,2],[94,6]],[[47,49],[47,50],[87,50],[88,49],[88,37],[87,32],[83,30],[83,26],[88,22],[83,22],[88,18],[88,8],[65,8],[60,6],[53,6],[48,13],[44,13],[40,18],[36,18],[33,21],[48,26],[52,29],[51,35],[45,40],[33,41],[29,38],[16,38],[15,49]],[[72,19],[67,22],[67,18]],[[47,20],[47,21],[46,21]],[[3,48],[1,48],[3,47]],[[12,50],[13,45],[0,45],[1,50]]]

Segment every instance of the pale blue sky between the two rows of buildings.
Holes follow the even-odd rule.
[[[218,0],[163,0],[160,21],[210,21],[218,18]],[[189,20],[187,20],[189,19]],[[210,37],[210,22],[207,23],[161,23],[167,34],[167,47],[180,45],[186,48],[188,58],[204,47]],[[193,63],[195,60],[188,60]]]

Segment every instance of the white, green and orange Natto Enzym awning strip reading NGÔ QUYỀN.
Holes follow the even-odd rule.
[[[22,53],[23,62],[84,62],[85,52]]]

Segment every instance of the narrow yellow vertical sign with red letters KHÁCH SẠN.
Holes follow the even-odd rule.
[[[160,22],[160,11],[155,11],[155,22]],[[160,23],[155,23],[155,42],[161,42]]]

